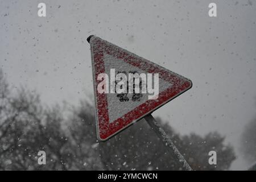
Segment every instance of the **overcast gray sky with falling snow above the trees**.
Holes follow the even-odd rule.
[[[238,147],[256,110],[255,21],[255,1],[1,0],[0,67],[45,104],[77,105],[93,94],[86,38],[100,36],[190,78],[192,89],[153,115],[181,134],[225,135],[238,156],[232,169],[246,169]]]

